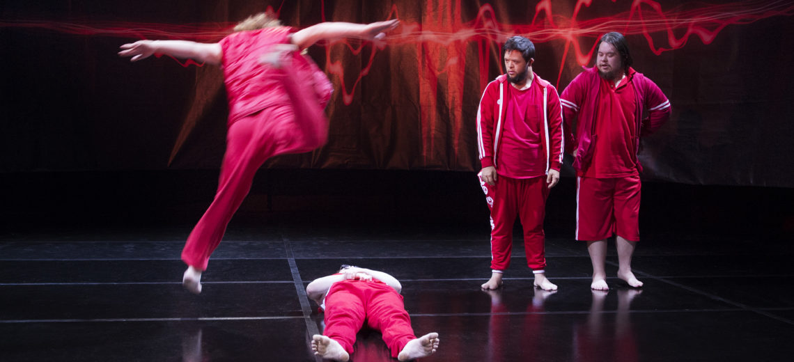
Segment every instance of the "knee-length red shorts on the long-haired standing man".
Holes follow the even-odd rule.
[[[576,240],[639,241],[640,176],[576,179]]]

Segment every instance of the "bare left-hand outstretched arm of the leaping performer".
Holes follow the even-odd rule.
[[[222,48],[218,43],[196,43],[187,40],[138,40],[121,45],[119,56],[131,56],[133,62],[144,60],[152,54],[165,54],[202,63],[221,64]]]

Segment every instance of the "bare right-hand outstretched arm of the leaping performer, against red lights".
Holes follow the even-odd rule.
[[[399,20],[378,21],[371,24],[355,24],[346,22],[324,22],[312,25],[292,34],[292,44],[299,48],[309,48],[319,40],[331,40],[343,37],[354,37],[366,40],[383,39],[387,32],[395,29]]]

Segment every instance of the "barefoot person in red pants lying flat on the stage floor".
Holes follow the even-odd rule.
[[[356,333],[364,326],[383,334],[391,356],[401,361],[430,356],[438,349],[438,333],[416,337],[403,305],[399,280],[384,272],[342,265],[333,275],[314,279],[306,295],[325,311],[323,335],[312,337],[314,355],[346,361]]]

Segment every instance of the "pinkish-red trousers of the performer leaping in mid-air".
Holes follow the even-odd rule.
[[[226,133],[226,152],[215,198],[195,225],[182,250],[182,260],[206,270],[226,225],[251,190],[253,176],[265,160],[285,153],[309,152],[322,146],[328,121],[310,87],[300,87],[287,67],[279,76],[291,104],[269,106],[234,121]]]

